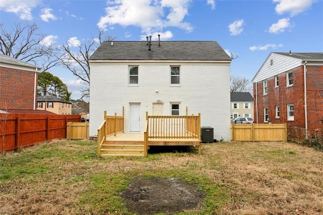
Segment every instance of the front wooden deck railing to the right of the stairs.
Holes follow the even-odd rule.
[[[151,139],[199,139],[200,114],[198,116],[148,116],[147,133]]]

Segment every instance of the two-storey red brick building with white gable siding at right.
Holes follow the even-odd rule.
[[[322,128],[323,53],[272,52],[252,82],[256,123]]]

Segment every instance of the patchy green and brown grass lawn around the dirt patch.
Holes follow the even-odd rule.
[[[0,210],[20,214],[131,214],[119,194],[137,176],[198,183],[200,208],[180,214],[323,213],[323,152],[294,143],[97,158],[94,142],[54,140],[0,156]]]

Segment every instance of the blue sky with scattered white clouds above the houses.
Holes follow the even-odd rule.
[[[78,45],[97,29],[119,41],[217,41],[229,54],[231,74],[250,81],[270,52],[323,52],[321,0],[1,0],[0,23],[36,23],[48,44]],[[49,72],[61,78],[73,98],[82,87],[67,69]]]

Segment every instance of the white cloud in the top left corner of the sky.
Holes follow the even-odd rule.
[[[40,3],[41,0],[1,0],[0,9],[8,13],[15,13],[22,20],[32,20],[31,10]]]

